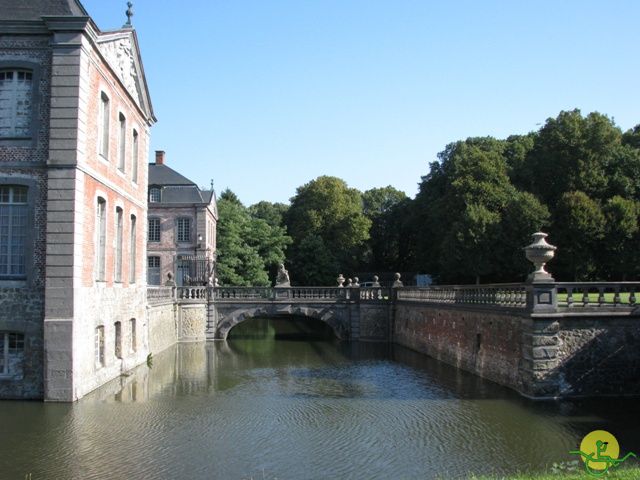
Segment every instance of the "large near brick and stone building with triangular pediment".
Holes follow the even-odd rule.
[[[145,360],[154,122],[131,25],[0,0],[0,398],[75,400]]]

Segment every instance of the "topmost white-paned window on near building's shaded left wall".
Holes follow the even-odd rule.
[[[0,70],[0,138],[31,134],[32,81],[28,70]]]

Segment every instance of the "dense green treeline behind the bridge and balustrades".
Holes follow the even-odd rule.
[[[558,246],[558,280],[640,273],[640,125],[561,112],[528,135],[453,142],[415,199],[392,186],[364,193],[335,177],[299,187],[290,205],[219,204],[227,284],[264,285],[286,256],[295,284],[358,271],[429,273],[441,283],[521,281],[522,247],[543,230]]]

